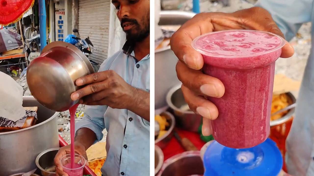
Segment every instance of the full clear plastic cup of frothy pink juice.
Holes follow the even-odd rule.
[[[219,111],[211,121],[213,137],[230,148],[250,148],[270,131],[275,61],[284,40],[272,33],[227,30],[204,34],[192,42],[203,55],[203,72],[225,86],[221,98],[207,97]]]

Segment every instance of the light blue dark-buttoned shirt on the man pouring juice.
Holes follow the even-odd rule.
[[[133,56],[133,52],[128,55],[121,50],[106,59],[99,71],[114,70],[128,84],[149,91],[149,54],[138,62]],[[82,127],[95,132],[95,142],[102,139],[105,128],[108,132],[107,158],[101,169],[104,176],[149,175],[148,121],[126,109],[85,106],[84,118],[75,124],[75,130]]]

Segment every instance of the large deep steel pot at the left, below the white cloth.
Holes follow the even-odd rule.
[[[35,159],[49,148],[59,147],[57,112],[42,106],[33,96],[23,97],[23,106],[37,106],[35,126],[0,132],[0,176],[29,172],[37,168]]]

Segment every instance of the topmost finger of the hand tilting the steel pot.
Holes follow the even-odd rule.
[[[108,79],[109,77],[113,76],[114,74],[115,74],[115,72],[113,70],[106,70],[106,71],[93,73],[93,74],[78,78],[75,81],[75,84],[78,86],[81,86],[81,85],[100,82],[100,81]]]

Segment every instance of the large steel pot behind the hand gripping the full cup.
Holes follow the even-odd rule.
[[[161,11],[159,25],[182,25],[194,15],[183,11]],[[155,51],[155,109],[167,106],[168,91],[180,83],[176,75],[177,61],[170,46]]]

